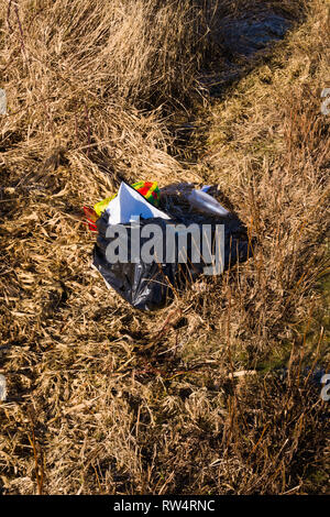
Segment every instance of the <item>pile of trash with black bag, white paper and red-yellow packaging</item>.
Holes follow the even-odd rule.
[[[242,222],[190,184],[122,182],[117,195],[84,207],[98,233],[92,266],[134,308],[154,310],[200,275],[220,275],[249,256]]]

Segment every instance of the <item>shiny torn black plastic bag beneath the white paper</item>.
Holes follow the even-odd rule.
[[[94,249],[94,266],[100,272],[108,286],[112,287],[119,295],[121,295],[133,307],[141,310],[160,309],[168,305],[176,290],[180,290],[187,284],[196,280],[200,276],[205,267],[209,264],[204,261],[201,249],[199,260],[194,261],[194,243],[191,239],[187,240],[186,248],[186,262],[178,262],[178,242],[176,237],[174,260],[173,262],[153,261],[146,262],[141,257],[135,256],[133,262],[132,257],[132,229],[136,231],[139,228],[142,231],[146,224],[156,224],[160,229],[157,232],[158,239],[163,242],[160,243],[163,250],[166,250],[166,230],[168,226],[179,224],[182,221],[178,219],[140,219],[139,222],[119,224],[127,231],[127,248],[128,248],[128,262],[110,262],[107,258],[107,248],[113,244],[117,237],[107,237],[107,229],[109,216],[103,212],[101,218],[97,221],[98,239]],[[187,221],[185,221],[187,224]],[[218,224],[224,226],[224,261],[223,268],[227,270],[233,265],[238,260],[243,262],[248,257],[248,239],[242,227],[241,221],[235,217],[223,218],[218,220]],[[132,226],[133,224],[133,226]],[[216,227],[215,218],[206,218],[198,224],[200,232],[200,242],[202,241],[202,232],[205,231],[204,224],[209,224],[211,228],[211,246],[215,246]],[[147,238],[141,238],[141,248],[147,241]],[[195,244],[197,245],[197,244]],[[196,250],[195,250],[196,251]],[[198,254],[198,253],[197,253]]]

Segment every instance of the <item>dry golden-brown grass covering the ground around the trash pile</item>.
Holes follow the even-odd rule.
[[[306,2],[274,55],[205,108],[188,169],[165,113],[198,96],[204,3],[0,0],[4,494],[328,491],[329,403],[306,369],[329,365],[329,10]],[[133,310],[90,268],[81,223],[122,177],[213,182],[254,256]]]

